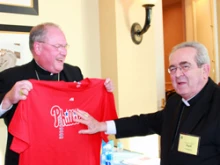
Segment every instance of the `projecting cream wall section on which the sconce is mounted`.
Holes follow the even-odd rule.
[[[145,9],[140,1],[100,1],[102,75],[113,79],[119,117],[158,110],[157,85],[164,91],[164,69],[157,69],[164,66],[161,6],[158,1],[153,8],[152,25],[142,43],[136,45],[130,28],[134,22],[144,24]],[[161,79],[161,84],[157,84],[157,79]],[[157,136],[127,138],[123,143],[126,149],[158,156]]]

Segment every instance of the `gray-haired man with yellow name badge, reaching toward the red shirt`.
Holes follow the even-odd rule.
[[[82,120],[76,122],[88,125],[80,133],[106,131],[117,138],[156,133],[161,165],[220,165],[220,88],[209,78],[208,51],[185,42],[173,48],[169,63],[176,94],[162,111],[101,123],[79,111]]]

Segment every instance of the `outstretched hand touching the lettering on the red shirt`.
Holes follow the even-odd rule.
[[[75,119],[74,121],[77,123],[81,123],[87,125],[88,129],[80,130],[80,134],[95,134],[97,132],[105,132],[107,130],[107,126],[105,122],[99,122],[90,116],[87,112],[76,110],[74,111],[81,119]]]

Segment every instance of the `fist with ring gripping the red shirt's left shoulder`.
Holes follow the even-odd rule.
[[[15,83],[2,100],[2,109],[8,109],[20,100],[26,100],[33,85],[28,80],[22,80]]]

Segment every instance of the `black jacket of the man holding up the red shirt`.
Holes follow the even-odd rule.
[[[20,80],[37,79],[36,63],[34,60],[22,66],[7,69],[0,72],[0,103],[5,94]],[[83,75],[79,67],[64,64],[64,69],[60,72],[60,79],[63,81],[80,81]],[[4,118],[5,124],[8,126],[16,110],[17,104],[13,105],[12,109],[5,113],[1,118]],[[12,135],[8,133],[5,165],[18,165],[18,154],[10,150]]]

